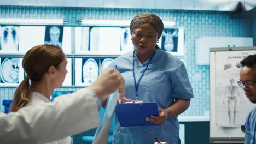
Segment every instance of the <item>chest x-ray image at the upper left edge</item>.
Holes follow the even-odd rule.
[[[3,52],[19,50],[19,26],[1,26],[1,46]]]

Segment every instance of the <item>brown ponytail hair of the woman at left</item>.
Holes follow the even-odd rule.
[[[18,111],[21,107],[30,103],[31,87],[29,80],[40,82],[49,67],[58,68],[65,57],[62,49],[55,45],[37,45],[28,50],[22,61],[22,67],[27,76],[14,93],[10,111]]]

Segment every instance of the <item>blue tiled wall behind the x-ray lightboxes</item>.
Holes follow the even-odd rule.
[[[139,12],[151,12],[163,21],[176,21],[185,28],[184,59],[194,96],[182,116],[204,116],[210,110],[210,72],[208,65],[195,65],[195,39],[199,37],[252,37],[252,19],[231,17],[231,12],[166,9],[74,8],[1,6],[0,17],[31,19],[66,19],[69,26],[78,26],[79,19],[131,20]],[[75,91],[77,87],[57,91]],[[1,87],[0,101],[12,99],[15,88]],[[3,107],[1,106],[1,111]],[[208,115],[207,115],[208,116]]]

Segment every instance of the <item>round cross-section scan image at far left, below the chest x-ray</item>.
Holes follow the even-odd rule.
[[[19,83],[19,58],[1,59],[1,83]]]

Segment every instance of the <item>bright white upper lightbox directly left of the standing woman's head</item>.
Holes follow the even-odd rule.
[[[132,49],[129,27],[75,27],[75,53],[121,55]]]

